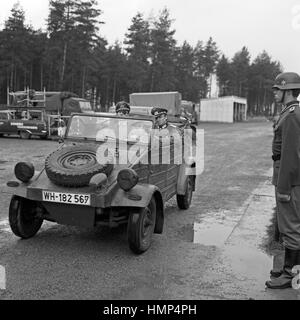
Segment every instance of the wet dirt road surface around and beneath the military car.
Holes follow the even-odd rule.
[[[0,298],[276,299],[276,295],[262,295],[263,281],[256,283],[257,291],[244,290],[243,286],[255,280],[231,279],[226,260],[237,256],[228,237],[242,219],[246,221],[247,199],[268,180],[266,172],[272,165],[271,123],[200,127],[205,130],[205,171],[197,179],[192,206],[180,211],[171,199],[164,233],[155,235],[152,247],[141,256],[128,249],[125,228],[79,229],[45,223],[36,237],[16,238],[7,224],[9,198],[1,192],[1,186],[20,160],[31,160],[42,168],[44,156],[57,143],[1,138],[0,265],[6,269],[7,287],[0,290]],[[220,221],[224,221],[221,229],[212,227],[209,231],[212,243],[201,238],[201,232],[196,239],[195,226],[201,231],[209,225],[220,226]],[[255,223],[255,217],[249,221]],[[215,239],[219,242],[214,243]],[[249,238],[249,242],[252,240]],[[254,241],[261,241],[260,237]],[[262,255],[265,257],[265,253]],[[225,278],[220,265],[227,268]],[[259,272],[268,277],[268,268],[268,263],[262,264]],[[244,277],[247,279],[246,274]]]

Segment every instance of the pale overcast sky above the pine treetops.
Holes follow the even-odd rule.
[[[16,0],[1,1],[0,26]],[[48,0],[19,0],[27,23],[45,27]],[[99,0],[103,11],[101,35],[110,44],[122,41],[132,17],[138,12],[147,18],[167,7],[175,38],[195,45],[212,36],[228,57],[248,47],[252,59],[266,50],[279,60],[285,71],[300,73],[300,0]]]

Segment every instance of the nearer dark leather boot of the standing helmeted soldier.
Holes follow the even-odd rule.
[[[270,289],[286,289],[292,287],[292,280],[295,276],[292,273],[294,266],[300,264],[300,250],[291,250],[285,248],[284,267],[282,274],[275,279],[266,282]]]

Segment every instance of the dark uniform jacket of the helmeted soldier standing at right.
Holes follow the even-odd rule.
[[[277,192],[291,194],[300,185],[300,107],[298,101],[288,103],[274,124],[272,144],[273,184]]]

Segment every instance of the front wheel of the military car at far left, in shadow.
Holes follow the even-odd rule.
[[[37,216],[34,201],[13,196],[9,206],[9,224],[16,236],[28,239],[40,230],[43,219]]]

